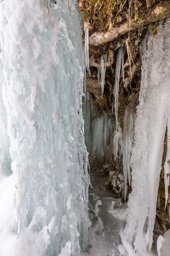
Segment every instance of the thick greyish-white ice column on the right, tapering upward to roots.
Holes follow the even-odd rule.
[[[156,200],[166,128],[170,118],[170,21],[159,25],[157,35],[145,37],[142,46],[142,81],[132,150],[132,193],[129,196],[126,247],[143,256],[151,249]],[[167,143],[168,144],[168,143]],[[167,151],[167,163],[169,148]],[[167,180],[168,169],[165,168]],[[131,247],[130,247],[131,248]],[[131,256],[131,254],[130,254]]]

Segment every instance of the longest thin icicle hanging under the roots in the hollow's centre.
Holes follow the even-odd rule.
[[[117,153],[118,153],[118,145],[119,139],[121,136],[121,128],[119,128],[118,122],[118,99],[119,99],[119,80],[122,68],[122,77],[124,78],[124,49],[122,47],[119,48],[117,54],[117,61],[116,61],[116,73],[115,73],[115,87],[114,87],[114,108],[115,108],[115,117],[116,117],[116,131],[113,138],[113,154],[116,160]]]

